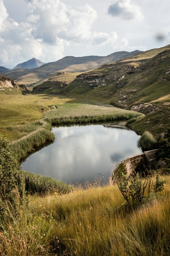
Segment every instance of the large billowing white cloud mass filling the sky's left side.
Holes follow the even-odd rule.
[[[97,13],[88,4],[73,9],[61,0],[25,1],[26,21],[17,23],[0,0],[0,65],[13,67],[33,57],[52,62],[63,57],[64,47],[71,42],[112,46],[117,40],[115,32],[92,31]]]

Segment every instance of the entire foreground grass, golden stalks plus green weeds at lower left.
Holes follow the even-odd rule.
[[[137,208],[124,203],[116,185],[31,196],[19,221],[1,222],[1,255],[168,256],[170,176],[162,178],[159,198]]]

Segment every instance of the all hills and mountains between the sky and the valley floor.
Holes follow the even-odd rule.
[[[12,79],[0,76],[0,91],[11,91],[13,86],[13,90],[24,90],[23,93],[67,96],[68,101],[110,103],[146,115],[131,120],[131,128],[139,134],[149,130],[163,135],[170,125],[169,60],[170,45],[106,57],[67,56],[32,70],[7,72],[6,75],[16,77],[15,81],[21,86],[17,89]],[[84,70],[86,72],[82,72]],[[35,82],[32,92],[28,91],[24,84]]]

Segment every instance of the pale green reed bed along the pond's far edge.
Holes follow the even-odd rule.
[[[62,104],[45,113],[45,120],[52,125],[68,123],[89,123],[111,120],[128,120],[143,116],[141,113],[128,111],[102,104],[70,103]]]

